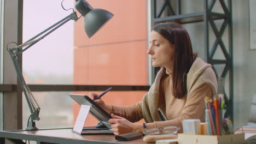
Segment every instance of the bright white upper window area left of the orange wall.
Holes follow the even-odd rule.
[[[62,0],[24,1],[24,42],[72,13],[63,10]],[[74,1],[63,1],[66,9]],[[27,83],[73,83],[73,23],[71,20],[22,53],[23,74]]]

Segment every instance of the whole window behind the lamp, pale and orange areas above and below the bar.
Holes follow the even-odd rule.
[[[72,12],[63,10],[61,2],[24,1],[24,41]],[[63,6],[73,8],[73,3],[64,1]],[[26,82],[46,85],[148,85],[147,1],[88,0],[88,3],[94,8],[109,10],[114,17],[90,39],[84,32],[83,17],[77,22],[69,21],[22,53]],[[68,93],[88,94],[33,92],[42,109],[38,128],[72,127],[79,105],[69,98]],[[102,99],[113,105],[132,105],[145,93],[114,92],[113,89]],[[30,111],[25,99],[23,103],[25,128]],[[87,126],[96,123],[93,117],[86,121]]]

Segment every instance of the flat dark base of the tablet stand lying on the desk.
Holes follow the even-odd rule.
[[[109,128],[84,127],[82,135],[113,135],[113,131]]]

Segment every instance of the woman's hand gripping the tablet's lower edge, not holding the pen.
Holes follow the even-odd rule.
[[[120,135],[124,133],[130,133],[132,131],[141,133],[143,129],[142,124],[136,124],[128,121],[123,117],[119,117],[111,114],[112,118],[108,120],[109,124],[111,124],[111,129],[114,132],[114,135]]]

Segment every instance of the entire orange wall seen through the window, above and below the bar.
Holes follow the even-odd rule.
[[[88,0],[88,3],[114,16],[90,39],[84,32],[83,19],[75,22],[74,85],[148,85],[147,1]],[[102,99],[108,104],[132,105],[145,93],[113,89]],[[73,103],[73,107],[75,121],[80,106]],[[96,123],[90,115],[85,125]]]

